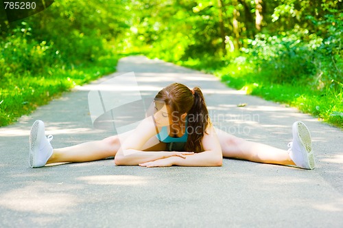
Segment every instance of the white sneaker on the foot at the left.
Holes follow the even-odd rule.
[[[45,137],[43,121],[36,120],[29,134],[29,166],[31,168],[45,166],[52,155],[53,149],[50,144],[52,138],[52,135]]]

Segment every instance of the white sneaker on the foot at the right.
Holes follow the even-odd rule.
[[[311,170],[316,166],[312,152],[311,135],[303,122],[294,122],[292,126],[293,141],[288,144],[289,157],[296,166]]]

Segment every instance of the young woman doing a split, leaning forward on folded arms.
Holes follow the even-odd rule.
[[[293,124],[289,150],[246,141],[214,128],[202,91],[179,83],[159,91],[154,99],[154,114],[128,133],[58,149],[52,148],[51,139],[51,135],[45,137],[43,122],[34,122],[29,166],[107,157],[115,157],[116,165],[145,167],[222,166],[222,157],[305,169],[315,166],[309,130],[302,122]]]

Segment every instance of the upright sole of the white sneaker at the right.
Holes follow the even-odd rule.
[[[296,130],[300,143],[305,147],[306,152],[303,152],[303,159],[307,161],[308,168],[313,169],[316,166],[314,161],[314,153],[312,152],[312,142],[309,129],[303,122],[296,122]]]

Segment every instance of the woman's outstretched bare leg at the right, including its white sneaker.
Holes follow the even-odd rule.
[[[302,122],[293,124],[293,141],[289,150],[281,150],[265,144],[246,141],[216,129],[223,157],[244,159],[259,163],[293,165],[300,168],[313,169],[314,155],[311,151],[311,136]]]

